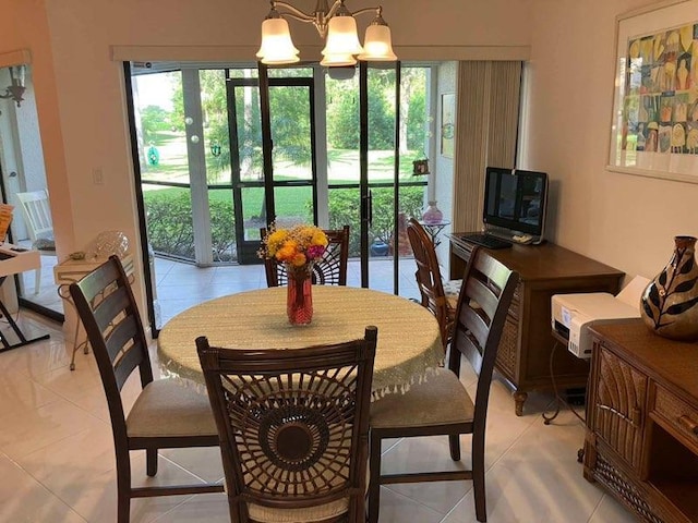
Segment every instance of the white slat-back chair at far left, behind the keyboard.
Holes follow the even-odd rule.
[[[53,240],[53,221],[51,220],[51,207],[48,193],[41,188],[28,193],[16,193],[22,214],[26,223],[26,230],[32,240],[32,248],[40,254],[56,256],[56,241]],[[38,294],[41,287],[41,267],[36,269],[34,280],[34,294]]]

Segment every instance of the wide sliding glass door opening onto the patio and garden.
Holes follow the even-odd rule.
[[[274,220],[349,224],[349,284],[417,295],[405,224],[425,203],[428,179],[412,175],[412,161],[430,150],[430,68],[364,64],[338,78],[318,65],[154,63],[133,73],[154,331],[228,289],[205,273],[228,267],[228,284],[260,267],[260,228]],[[190,287],[171,278],[191,273],[182,264],[201,270]],[[265,285],[243,279],[240,290]]]

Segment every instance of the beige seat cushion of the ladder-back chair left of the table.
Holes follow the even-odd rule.
[[[216,435],[206,394],[173,379],[149,382],[127,417],[129,437]]]

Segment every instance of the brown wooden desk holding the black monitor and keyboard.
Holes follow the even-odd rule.
[[[473,244],[450,238],[450,279],[462,278]],[[551,297],[573,292],[621,289],[624,272],[557,246],[514,245],[488,250],[520,275],[500,342],[495,368],[514,389],[516,414],[524,413],[528,391],[552,389],[550,358],[556,341],[551,335]],[[586,387],[589,365],[565,350],[556,351],[553,372],[558,388]]]

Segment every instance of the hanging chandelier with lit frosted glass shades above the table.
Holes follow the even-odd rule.
[[[383,20],[383,8],[365,8],[351,13],[345,0],[335,0],[332,8],[327,0],[317,0],[315,11],[306,14],[290,3],[270,0],[272,9],[262,22],[262,46],[257,58],[268,65],[280,65],[300,61],[300,52],[293,41],[284,19],[291,17],[300,22],[312,23],[320,36],[325,39],[321,65],[349,66],[358,60],[389,62],[397,60],[393,52],[390,28]],[[282,9],[282,12],[279,12]],[[359,14],[375,12],[375,17],[366,27],[363,46],[359,42],[357,21]]]

